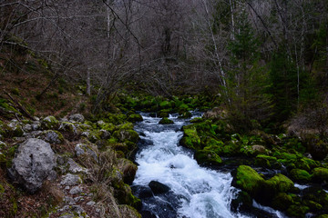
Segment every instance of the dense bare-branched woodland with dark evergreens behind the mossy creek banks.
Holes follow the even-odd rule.
[[[54,81],[87,84],[94,109],[124,87],[208,93],[247,128],[326,104],[323,0],[2,1],[0,11],[3,71],[10,49],[28,49]]]

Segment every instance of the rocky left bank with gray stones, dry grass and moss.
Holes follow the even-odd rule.
[[[1,217],[140,217],[128,186],[138,114],[0,123]]]

